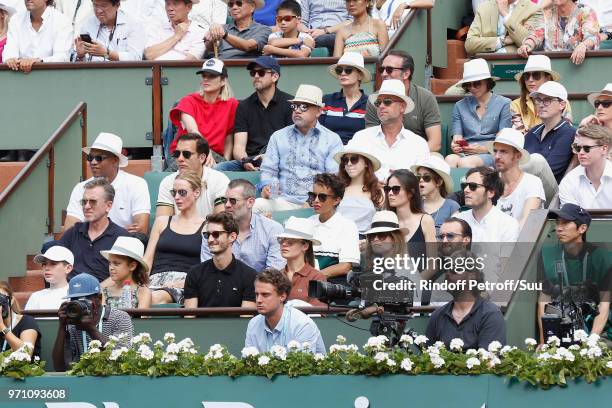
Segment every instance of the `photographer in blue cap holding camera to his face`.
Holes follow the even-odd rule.
[[[103,345],[109,336],[125,335],[119,345],[132,341],[134,326],[130,316],[122,311],[105,307],[102,303],[100,283],[87,273],[75,276],[68,284],[69,302],[58,310],[59,326],[53,345],[53,367],[66,371],[70,363],[78,361],[92,340]]]

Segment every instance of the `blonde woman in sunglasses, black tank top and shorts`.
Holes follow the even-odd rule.
[[[202,228],[197,201],[202,194],[202,180],[186,171],[176,176],[170,194],[178,214],[155,219],[144,261],[149,266],[153,304],[183,303],[187,271],[200,263]]]

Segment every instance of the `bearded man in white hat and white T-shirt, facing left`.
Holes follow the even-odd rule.
[[[544,187],[536,176],[525,173],[519,167],[529,161],[529,153],[523,148],[523,134],[515,129],[502,129],[495,141],[487,147],[495,159],[495,168],[504,182],[504,192],[497,200],[497,207],[516,218],[522,227],[529,212],[542,208],[546,202]]]

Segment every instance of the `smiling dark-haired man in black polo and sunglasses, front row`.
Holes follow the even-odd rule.
[[[257,272],[232,254],[238,224],[232,214],[206,217],[203,240],[212,258],[193,266],[185,278],[185,307],[255,307]]]

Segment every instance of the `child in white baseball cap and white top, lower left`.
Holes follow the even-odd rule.
[[[56,245],[36,255],[34,262],[42,265],[49,287],[32,293],[25,310],[59,309],[68,294],[68,274],[72,272],[74,255],[68,248]]]

